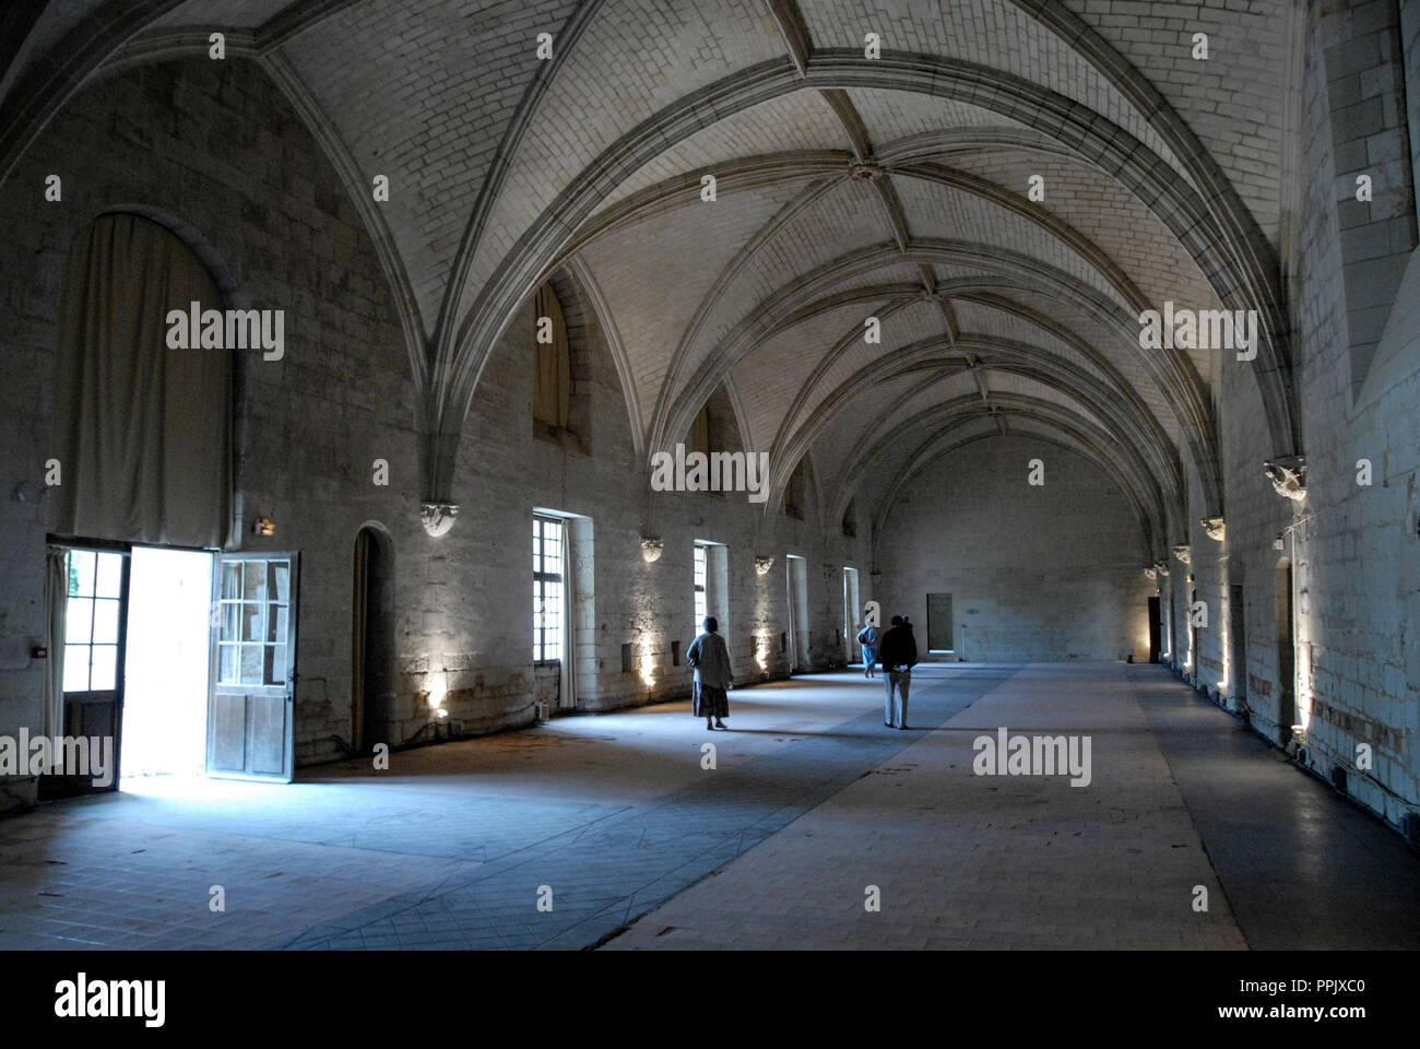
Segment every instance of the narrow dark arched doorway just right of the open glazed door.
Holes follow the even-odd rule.
[[[351,746],[395,742],[395,544],[379,524],[355,536],[351,603]]]

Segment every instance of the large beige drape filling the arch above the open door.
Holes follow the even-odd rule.
[[[50,532],[226,546],[231,353],[169,348],[168,311],[222,310],[212,276],[155,222],[104,215],[64,270]]]

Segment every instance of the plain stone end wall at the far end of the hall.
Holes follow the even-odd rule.
[[[1031,459],[1045,483],[1028,483]],[[1153,584],[1119,488],[1074,452],[988,438],[932,463],[878,546],[885,618],[906,613],[922,658],[1120,660],[1149,654]],[[927,594],[953,600],[953,645],[927,654]]]

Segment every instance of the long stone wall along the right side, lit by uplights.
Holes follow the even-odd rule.
[[[1213,606],[1210,630],[1198,631],[1208,662],[1181,669],[1279,745],[1301,725],[1294,746],[1304,765],[1326,778],[1345,772],[1348,793],[1399,826],[1420,802],[1420,266],[1409,163],[1392,148],[1403,121],[1394,16],[1386,4],[1309,7],[1301,175],[1289,202],[1296,237],[1284,259],[1306,497],[1282,499],[1262,476],[1262,461],[1281,449],[1251,365],[1224,360],[1225,540],[1208,540],[1194,523],[1174,542],[1191,543],[1194,586]],[[1367,121],[1376,134],[1358,141]],[[1367,172],[1370,205],[1355,198],[1355,176]],[[1372,301],[1377,283],[1356,274],[1382,257],[1387,287],[1399,290]],[[1288,566],[1291,677],[1278,644],[1288,634],[1278,600]],[[1173,567],[1181,614],[1184,574]],[[1227,625],[1230,586],[1242,587],[1245,667],[1231,658],[1240,638]]]

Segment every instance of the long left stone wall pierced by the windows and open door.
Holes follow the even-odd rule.
[[[193,128],[202,128],[195,134]],[[45,203],[44,179],[62,178]],[[574,340],[578,419],[591,453],[532,438],[531,310],[514,320],[484,371],[466,422],[454,488],[463,513],[444,537],[419,523],[413,385],[405,340],[373,246],[335,171],[291,107],[253,63],[169,61],[109,75],[81,91],[36,142],[0,196],[9,247],[0,289],[0,733],[37,731],[47,499],[60,277],[72,239],[105,210],[138,210],[183,236],[209,263],[230,306],[281,308],[281,361],[239,361],[237,542],[301,554],[297,762],[341,753],[351,738],[351,601],[355,536],[366,523],[393,543],[396,741],[429,711],[423,689],[447,688],[450,718],[470,732],[534,718],[530,543],[534,507],[592,519],[595,688],[589,711],[689,694],[670,641],[689,642],[692,547],[728,547],[723,630],[740,679],[782,677],[784,554],[811,566],[815,660],[834,655],[842,566],[863,569],[863,540],[811,512],[791,520],[743,495],[655,493],[633,462],[616,370],[595,316],[565,273],[557,279]],[[589,419],[589,422],[586,421]],[[373,462],[389,485],[373,483]],[[257,537],[257,516],[275,536]],[[640,537],[665,556],[642,559]],[[585,544],[584,544],[585,546]],[[765,576],[755,554],[775,556]],[[870,594],[862,594],[866,600]],[[767,641],[760,641],[767,638]],[[622,645],[638,647],[633,672]],[[763,651],[761,651],[763,650]],[[640,655],[640,652],[645,655]],[[763,658],[763,669],[757,655]],[[838,657],[841,661],[841,657]],[[4,782],[0,807],[33,803],[28,778]]]

